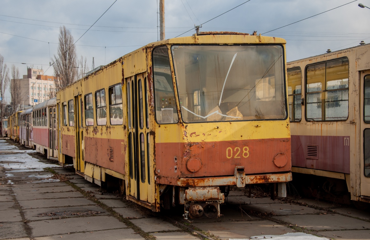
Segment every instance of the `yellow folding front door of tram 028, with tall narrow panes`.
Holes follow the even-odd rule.
[[[147,74],[127,79],[129,195],[151,202]],[[153,184],[153,183],[152,183]]]

